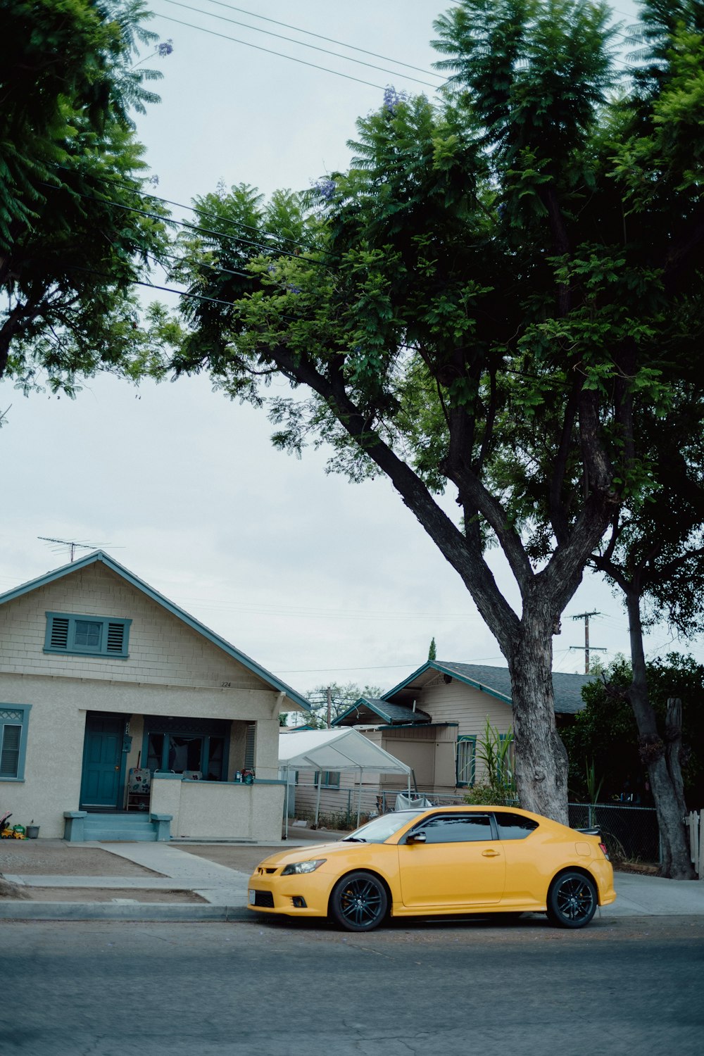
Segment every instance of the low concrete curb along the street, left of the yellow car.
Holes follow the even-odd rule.
[[[244,906],[215,906],[177,902],[31,902],[0,901],[0,920],[5,921],[167,921],[254,923]]]

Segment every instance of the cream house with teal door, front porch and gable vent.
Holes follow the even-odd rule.
[[[279,838],[290,710],[307,701],[102,551],[0,596],[0,814],[40,837],[132,811],[142,838]]]

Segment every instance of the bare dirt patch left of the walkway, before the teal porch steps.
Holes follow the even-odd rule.
[[[61,840],[3,840],[0,873],[20,876],[160,876],[119,854],[97,847],[72,847]]]

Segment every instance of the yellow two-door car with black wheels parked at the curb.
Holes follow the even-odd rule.
[[[569,829],[514,807],[434,807],[385,814],[332,844],[264,859],[249,908],[329,917],[369,931],[388,913],[544,912],[584,927],[616,897],[594,829]]]

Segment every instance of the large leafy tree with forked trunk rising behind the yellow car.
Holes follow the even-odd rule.
[[[175,371],[266,404],[282,450],[385,474],[461,576],[512,670],[521,799],[553,816],[549,691],[539,714],[526,695],[607,528],[624,511],[638,535],[664,494],[659,430],[701,402],[701,3],[673,10],[644,0],[631,76],[604,3],[461,0],[435,25],[436,101],[388,90],[306,193],[220,188],[174,267],[225,301],[184,302]]]

